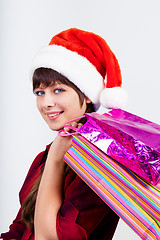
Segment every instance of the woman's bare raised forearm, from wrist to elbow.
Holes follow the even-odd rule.
[[[58,239],[56,219],[62,205],[63,157],[71,141],[72,137],[57,136],[50,147],[36,201],[35,239]]]

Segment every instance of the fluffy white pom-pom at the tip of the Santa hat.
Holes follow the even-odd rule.
[[[127,102],[127,93],[121,87],[105,88],[100,94],[100,103],[105,108],[123,108]]]

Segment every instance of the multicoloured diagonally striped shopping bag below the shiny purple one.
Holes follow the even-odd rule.
[[[150,185],[80,135],[64,161],[141,239],[160,239],[160,184]]]

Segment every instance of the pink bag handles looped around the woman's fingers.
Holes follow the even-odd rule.
[[[74,119],[66,122],[66,123],[64,124],[64,128],[61,129],[61,130],[59,130],[58,135],[61,136],[61,137],[66,137],[66,136],[73,136],[73,135],[78,134],[79,128],[73,127],[73,126],[71,126],[71,125],[68,124],[68,123],[77,121],[77,120],[79,120],[79,119],[81,119],[81,118],[84,118],[84,117],[85,117],[85,115],[83,115],[83,116],[81,116],[81,117],[78,117],[78,118],[74,118]],[[72,132],[66,131],[65,128],[68,128],[69,131],[71,130]]]

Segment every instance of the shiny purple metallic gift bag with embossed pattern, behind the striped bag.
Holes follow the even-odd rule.
[[[159,182],[160,125],[120,109],[85,115],[82,136],[147,182]]]

